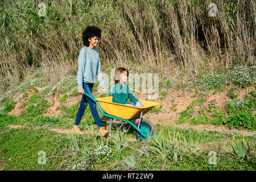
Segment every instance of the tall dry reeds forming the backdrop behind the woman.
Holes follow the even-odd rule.
[[[1,88],[21,81],[42,67],[49,82],[76,75],[88,25],[102,28],[103,68],[123,66],[133,72],[185,77],[255,65],[255,1],[214,1],[217,16],[208,15],[212,1],[203,0],[69,0],[0,2]],[[103,69],[103,71],[104,71]]]

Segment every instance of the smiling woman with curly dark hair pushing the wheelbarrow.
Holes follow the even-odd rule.
[[[101,38],[101,30],[96,26],[88,26],[82,32],[82,42],[85,47],[81,48],[79,53],[79,68],[77,71],[77,84],[80,94],[83,92],[88,93],[92,96],[93,85],[96,82],[96,76],[98,76],[98,81],[102,90],[105,90],[104,79],[101,72],[101,62],[100,54],[95,47],[98,46],[98,39]],[[84,114],[85,107],[89,103],[90,111],[92,112],[93,118],[100,130],[101,136],[106,137],[108,131],[101,124],[100,117],[96,109],[96,104],[93,100],[86,97],[85,94],[82,94],[82,100],[80,102],[79,110],[77,111],[75,125],[73,129],[76,134],[82,134],[82,131],[79,129],[79,123],[81,121],[82,115]]]

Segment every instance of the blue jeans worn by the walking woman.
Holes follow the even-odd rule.
[[[93,97],[92,95],[93,84],[84,82],[82,84],[82,87],[84,88],[84,92],[88,93],[90,96]],[[87,106],[87,103],[89,103],[90,111],[92,112],[93,119],[95,120],[98,128],[102,127],[101,119],[98,116],[98,112],[96,109],[96,103],[93,100],[91,100],[89,97],[85,96],[85,94],[82,94],[82,100],[80,102],[79,110],[77,111],[75,125],[76,126],[79,125],[82,119],[82,115],[84,115],[84,111],[85,111],[85,107]]]

